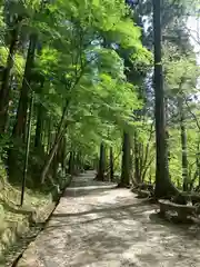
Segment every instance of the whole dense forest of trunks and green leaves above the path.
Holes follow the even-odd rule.
[[[156,197],[199,190],[200,2],[161,2],[0,1],[3,205],[88,168]]]

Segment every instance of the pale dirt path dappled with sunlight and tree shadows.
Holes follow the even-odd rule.
[[[97,185],[93,172],[74,179],[18,267],[200,267],[197,229],[162,221],[128,189]]]

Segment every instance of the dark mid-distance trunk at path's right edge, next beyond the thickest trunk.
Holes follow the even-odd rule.
[[[122,161],[121,161],[121,180],[119,187],[127,187],[130,185],[130,136],[123,132],[122,145]]]

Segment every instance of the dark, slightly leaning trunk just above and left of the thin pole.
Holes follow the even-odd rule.
[[[17,121],[13,127],[13,137],[20,137],[22,138],[22,140],[24,140],[24,137],[26,137],[27,108],[28,108],[31,70],[33,67],[36,46],[37,46],[37,36],[32,33],[30,36],[23,81],[22,81],[20,100],[19,100],[18,111],[17,111]]]

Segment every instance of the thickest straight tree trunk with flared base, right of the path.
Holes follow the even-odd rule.
[[[153,2],[153,29],[154,29],[154,116],[156,116],[156,144],[157,144],[157,171],[156,189],[157,198],[168,197],[177,194],[177,189],[170,181],[168,168],[168,149],[166,140],[166,118],[164,118],[164,91],[161,57],[161,0]]]

